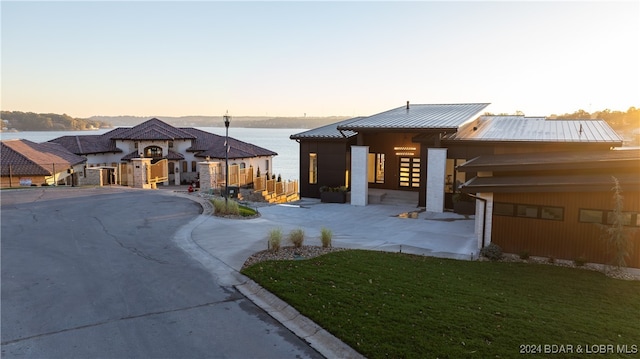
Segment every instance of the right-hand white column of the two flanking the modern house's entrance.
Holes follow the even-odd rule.
[[[427,211],[444,212],[444,182],[447,170],[447,149],[427,149]]]

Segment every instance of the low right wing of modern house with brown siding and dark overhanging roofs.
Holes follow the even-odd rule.
[[[640,268],[640,150],[483,155],[458,167],[477,174],[478,248],[611,263],[603,226],[613,221],[615,178],[623,196],[629,267]]]

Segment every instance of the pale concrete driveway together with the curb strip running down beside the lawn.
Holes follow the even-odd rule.
[[[333,232],[334,247],[464,260],[478,256],[472,216],[419,212],[417,218],[403,218],[420,209],[412,204],[357,207],[305,198],[295,204],[259,207],[259,218],[226,219],[211,215],[211,205],[202,194],[181,193],[175,189],[172,192],[196,200],[205,208],[201,216],[179,229],[176,243],[200,261],[221,285],[237,288],[328,358],[361,355],[240,274],[248,257],[267,249],[271,229],[281,228],[286,235],[292,229],[301,228],[305,232],[305,245],[320,246],[320,231],[326,227]]]

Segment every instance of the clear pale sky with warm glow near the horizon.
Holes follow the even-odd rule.
[[[2,110],[367,116],[640,107],[640,2],[2,1]]]

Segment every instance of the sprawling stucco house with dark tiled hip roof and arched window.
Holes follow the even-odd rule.
[[[133,127],[119,127],[102,135],[63,136],[49,141],[65,147],[87,160],[87,169],[101,168],[110,173],[110,181],[122,185],[133,183],[131,163],[136,158],[150,158],[159,168],[160,182],[180,184],[197,182],[198,162],[225,160],[225,137],[190,127],[173,127],[152,118]],[[230,171],[262,173],[271,171],[277,153],[229,138]],[[224,172],[224,166],[219,173]]]

